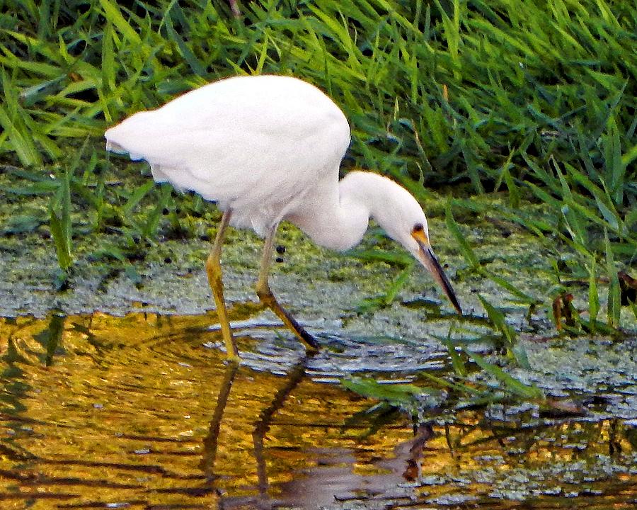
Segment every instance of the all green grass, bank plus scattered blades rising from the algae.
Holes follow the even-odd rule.
[[[170,229],[183,228],[169,188],[109,186],[105,176],[118,170],[103,151],[105,128],[208,81],[293,74],[350,119],[346,168],[392,176],[423,203],[432,188],[505,191],[493,215],[575,254],[556,276],[559,292],[566,280],[587,282],[588,319],[575,329],[621,327],[616,273],[637,259],[636,1],[262,0],[240,2],[241,16],[224,1],[4,4],[1,161],[28,179],[14,192],[51,197],[64,274],[71,210],[95,232],[120,232],[120,246],[96,256],[124,264],[137,240],[154,243],[164,212]],[[520,207],[528,201],[545,213]],[[154,205],[142,215],[140,204]],[[554,296],[523,294],[481,266],[454,220],[480,207],[457,198],[447,210],[471,271],[515,302],[550,310]],[[408,271],[370,309],[393,300]],[[606,317],[600,279],[609,283]],[[498,313],[488,316],[506,337]]]

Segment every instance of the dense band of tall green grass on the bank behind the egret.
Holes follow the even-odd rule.
[[[24,165],[207,81],[275,72],[326,89],[353,159],[380,171],[482,191],[554,179],[553,157],[616,205],[637,193],[631,1],[8,5],[1,149]]]

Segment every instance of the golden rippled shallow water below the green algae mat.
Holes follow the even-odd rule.
[[[414,428],[334,382],[441,375],[444,352],[337,331],[306,358],[286,331],[235,318],[239,368],[213,314],[2,319],[0,508],[637,504],[637,421],[608,395],[604,412],[493,406]],[[634,399],[621,394],[615,407]]]

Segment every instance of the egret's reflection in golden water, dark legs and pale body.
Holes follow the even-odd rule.
[[[316,455],[316,465],[297,472],[289,482],[271,487],[268,480],[268,447],[265,438],[272,421],[285,406],[300,382],[306,376],[308,361],[314,356],[309,353],[294,365],[285,376],[285,385],[275,393],[268,407],[263,409],[253,423],[253,458],[256,463],[258,495],[246,497],[226,497],[215,491],[221,498],[219,508],[239,508],[246,505],[258,509],[278,508],[292,505],[305,509],[314,509],[321,505],[333,504],[337,499],[360,499],[362,497],[396,497],[396,487],[404,482],[413,482],[420,474],[420,458],[423,446],[432,437],[429,424],[422,424],[414,431],[409,441],[398,443],[393,455],[374,460],[374,471],[381,474],[360,475],[355,472],[357,458],[349,448],[321,448],[316,446],[308,455]],[[219,432],[221,431],[224,410],[229,402],[232,384],[239,371],[236,363],[226,365],[224,379],[219,385],[217,404],[214,407],[210,428],[204,440],[204,452],[200,468],[204,472],[211,488],[215,480],[222,476],[216,469]],[[232,448],[232,446],[229,446]],[[239,443],[236,443],[239,448]]]

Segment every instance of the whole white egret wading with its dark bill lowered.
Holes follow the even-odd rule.
[[[222,79],[135,113],[105,137],[108,150],[149,162],[155,181],[195,191],[223,211],[206,269],[229,358],[239,353],[220,263],[228,225],[265,237],[256,292],[309,348],[317,348],[316,340],[279,305],[268,284],[282,220],[316,244],[346,250],[361,241],[372,217],[432,273],[461,313],[433,254],[425,213],[411,193],[367,171],[338,180],[350,126],[340,108],[305,81],[270,75]]]

